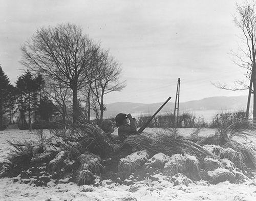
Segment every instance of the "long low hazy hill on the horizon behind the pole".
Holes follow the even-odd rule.
[[[174,100],[173,100],[174,101]],[[107,104],[107,110],[104,112],[105,118],[115,117],[118,113],[131,113],[135,116],[142,114],[154,113],[163,103],[131,103],[117,102]],[[220,110],[236,110],[245,109],[247,104],[247,96],[232,97],[209,97],[201,100],[187,101],[180,103],[180,111],[220,111]],[[172,112],[174,110],[174,102],[168,102],[161,110],[161,113]]]

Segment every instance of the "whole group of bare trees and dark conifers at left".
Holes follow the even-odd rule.
[[[79,116],[97,123],[106,110],[104,97],[125,87],[122,69],[108,50],[74,24],[40,28],[21,48],[26,70],[15,86],[0,66],[0,127],[58,120],[75,124]],[[17,122],[15,122],[17,123]]]

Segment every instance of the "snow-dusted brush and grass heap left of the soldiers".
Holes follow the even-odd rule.
[[[20,175],[21,181],[36,182],[39,186],[46,185],[51,178],[78,185],[93,183],[102,169],[101,157],[112,151],[105,133],[83,122],[75,128],[62,127],[50,133],[52,136],[37,135],[39,139],[33,142],[9,142],[13,151],[9,163],[1,165],[0,176]]]

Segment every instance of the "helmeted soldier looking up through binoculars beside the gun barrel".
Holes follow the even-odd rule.
[[[132,117],[131,114],[119,113],[116,118],[116,126],[118,127],[119,140],[123,142],[127,136],[137,134],[137,122],[136,119]],[[128,124],[130,120],[130,125]]]

